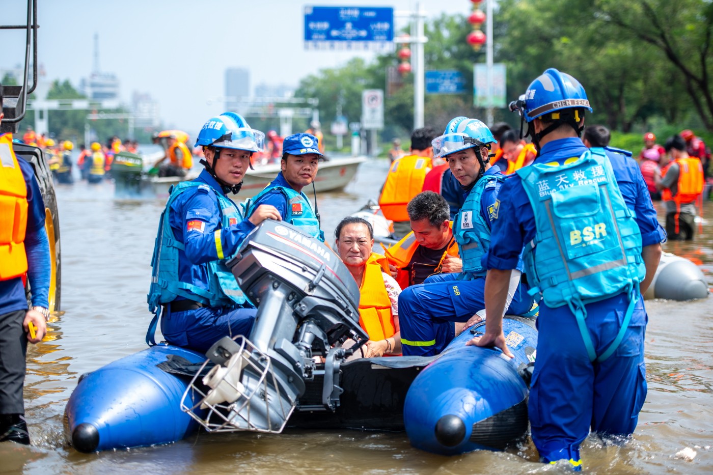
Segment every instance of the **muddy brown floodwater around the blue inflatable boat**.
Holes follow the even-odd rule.
[[[338,193],[319,195],[329,242],[339,220],[378,198],[385,160],[361,165]],[[48,337],[28,352],[26,415],[34,446],[0,444],[0,474],[534,474],[531,441],[505,452],[445,457],[412,448],[406,434],[287,430],[280,435],[198,432],[175,444],[82,454],[68,446],[62,419],[78,377],[145,348],[149,261],[164,200],[115,200],[113,184],[59,185],[62,310]],[[310,191],[311,193],[311,191]],[[662,215],[660,215],[662,218]],[[709,220],[709,218],[711,218]],[[699,263],[713,280],[713,203],[703,235],[665,250]],[[713,299],[647,301],[649,393],[625,446],[583,444],[585,473],[713,472]],[[695,452],[692,461],[679,451]]]

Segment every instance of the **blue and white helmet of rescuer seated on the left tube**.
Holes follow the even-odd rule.
[[[195,141],[195,146],[199,145],[261,152],[265,148],[265,134],[250,128],[240,114],[224,112],[203,124]]]

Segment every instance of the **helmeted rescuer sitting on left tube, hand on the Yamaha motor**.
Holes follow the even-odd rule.
[[[147,341],[153,342],[158,315],[167,342],[199,352],[226,335],[250,334],[255,307],[225,262],[256,225],[280,216],[261,205],[245,219],[227,193],[240,190],[250,156],[264,142],[262,132],[229,112],[211,118],[198,134],[195,145],[202,145],[205,170],[173,187],[160,218],[148,294],[156,316]]]

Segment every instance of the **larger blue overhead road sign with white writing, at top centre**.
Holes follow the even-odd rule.
[[[394,48],[394,9],[305,6],[304,48]]]

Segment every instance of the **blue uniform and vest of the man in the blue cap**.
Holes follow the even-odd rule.
[[[284,179],[282,172],[277,173],[275,180],[250,200],[245,215],[252,216],[260,205],[275,206],[284,222],[297,226],[305,233],[324,242],[324,231],[319,229],[319,220],[312,210],[309,198],[304,193],[297,193]]]

